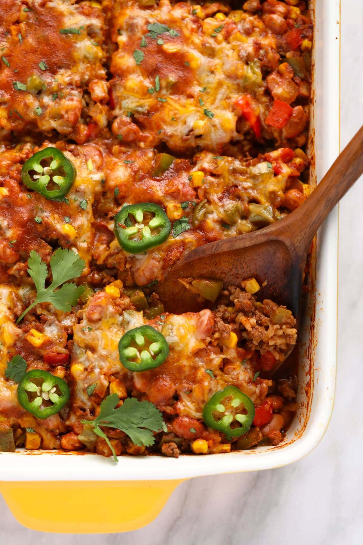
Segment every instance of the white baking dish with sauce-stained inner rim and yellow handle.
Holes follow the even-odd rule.
[[[317,0],[315,19],[312,183],[328,171],[340,149],[340,0]],[[278,447],[179,459],[122,457],[117,465],[97,455],[0,453],[0,491],[15,517],[43,531],[132,530],[151,522],[184,479],[270,469],[307,455],[322,439],[333,410],[338,220],[335,209],[318,233],[312,259],[316,289],[299,346],[299,409]]]

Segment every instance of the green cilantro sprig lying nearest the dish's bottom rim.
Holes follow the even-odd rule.
[[[81,420],[82,424],[93,425],[94,433],[106,441],[115,462],[117,462],[117,457],[114,448],[100,426],[120,429],[138,446],[153,445],[155,437],[152,432],[167,431],[162,414],[153,403],[128,397],[121,407],[116,408],[119,401],[119,396],[112,393],[102,401],[100,414],[95,420]]]

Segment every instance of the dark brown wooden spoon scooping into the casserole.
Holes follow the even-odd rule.
[[[241,286],[246,278],[255,277],[261,286],[259,300],[272,299],[286,305],[299,322],[307,252],[325,217],[363,173],[362,150],[363,127],[309,198],[283,220],[186,253],[158,288],[166,310],[182,313],[201,308],[198,295],[184,287],[180,278],[222,280],[227,287]]]

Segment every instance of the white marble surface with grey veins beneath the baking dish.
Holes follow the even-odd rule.
[[[343,0],[342,146],[363,123],[362,27],[361,2]],[[126,534],[62,536],[27,530],[16,522],[0,497],[0,543],[363,543],[362,209],[363,179],[344,197],[340,207],[336,401],[329,429],[315,451],[302,461],[281,469],[200,477],[185,482],[175,490],[154,522]]]

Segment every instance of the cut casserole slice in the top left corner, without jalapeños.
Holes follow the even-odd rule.
[[[0,13],[0,136],[55,130],[83,142],[106,126],[102,10],[71,0],[0,0]]]

